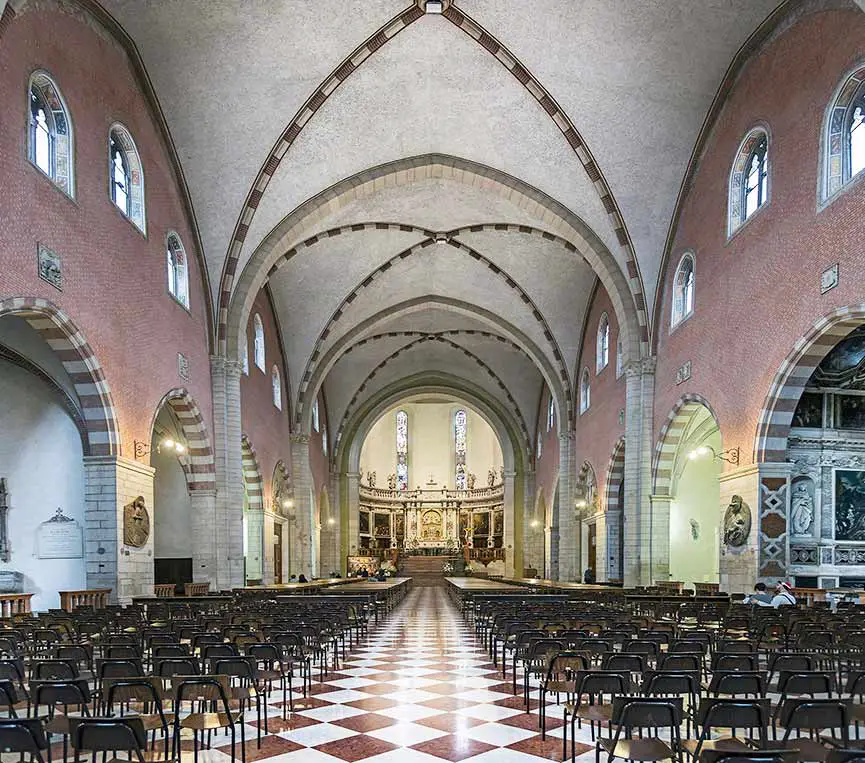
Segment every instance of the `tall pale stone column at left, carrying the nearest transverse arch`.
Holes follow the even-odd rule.
[[[211,588],[245,584],[243,466],[241,463],[240,363],[212,356],[213,440],[216,458],[216,565]]]

